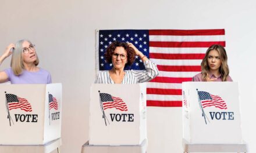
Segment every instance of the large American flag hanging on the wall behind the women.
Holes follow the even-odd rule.
[[[158,77],[147,83],[147,106],[182,107],[182,82],[201,72],[209,46],[225,46],[225,30],[99,30],[97,74],[112,68],[104,53],[113,41],[133,43],[158,65]],[[140,57],[128,69],[144,70]]]

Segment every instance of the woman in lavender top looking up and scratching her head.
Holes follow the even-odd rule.
[[[10,81],[14,84],[47,84],[52,83],[51,74],[37,67],[39,59],[34,45],[28,40],[11,43],[0,56],[0,64],[12,54],[10,68],[0,71],[0,83]]]

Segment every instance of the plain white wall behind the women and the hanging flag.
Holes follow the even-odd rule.
[[[244,140],[256,152],[255,6],[253,0],[1,0],[0,50],[22,38],[35,43],[40,67],[63,84],[61,151],[80,152],[88,140],[95,29],[225,28],[230,75],[240,83]],[[147,152],[182,152],[181,142],[181,108],[148,107]]]

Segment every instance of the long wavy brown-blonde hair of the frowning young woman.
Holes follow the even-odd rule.
[[[227,81],[227,77],[229,76],[229,66],[227,65],[227,53],[225,48],[221,45],[212,45],[207,49],[205,53],[204,59],[202,59],[201,70],[202,70],[202,79],[206,81],[207,74],[209,73],[209,65],[208,65],[208,56],[211,50],[216,50],[221,56],[221,67],[219,67],[219,72],[221,73],[222,81]]]

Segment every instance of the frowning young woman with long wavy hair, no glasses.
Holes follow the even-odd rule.
[[[202,59],[200,74],[193,77],[192,81],[233,81],[229,76],[227,54],[221,45],[212,45]]]

